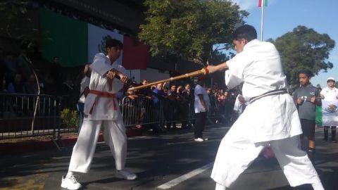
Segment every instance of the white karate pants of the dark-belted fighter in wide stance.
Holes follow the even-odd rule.
[[[251,143],[241,134],[243,134],[242,129],[241,131],[234,129],[228,132],[220,143],[211,173],[211,178],[218,184],[230,187],[268,144],[273,148],[290,186],[320,182],[306,152],[298,148],[299,135],[287,139]]]

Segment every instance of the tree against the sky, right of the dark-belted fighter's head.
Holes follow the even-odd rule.
[[[289,84],[297,83],[299,70],[308,69],[318,75],[321,70],[327,72],[333,68],[333,64],[327,59],[335,42],[328,34],[319,34],[312,28],[298,26],[275,41],[270,39],[270,42],[280,52]]]

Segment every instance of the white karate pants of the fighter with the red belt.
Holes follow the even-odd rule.
[[[89,171],[101,127],[104,127],[104,141],[111,148],[111,153],[115,158],[116,170],[125,168],[127,135],[123,121],[84,120],[70,158],[69,171],[83,173]]]

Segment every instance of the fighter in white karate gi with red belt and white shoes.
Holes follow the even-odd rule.
[[[89,171],[101,127],[104,128],[104,140],[115,158],[116,177],[137,178],[137,175],[125,170],[127,136],[115,97],[123,88],[123,83],[127,82],[127,77],[121,72],[121,65],[116,63],[123,44],[116,39],[107,39],[106,50],[107,56],[104,53],[96,54],[90,65],[92,76],[90,91],[84,103],[84,121],[73,148],[68,174],[62,177],[61,186],[66,189],[80,189],[81,184],[75,179],[74,173]],[[120,80],[115,78],[116,75]]]

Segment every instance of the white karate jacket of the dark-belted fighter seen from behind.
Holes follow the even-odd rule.
[[[270,42],[252,40],[241,53],[227,61],[225,80],[228,87],[243,84],[245,99],[276,89],[287,89],[280,55]],[[292,96],[265,96],[246,106],[236,125],[249,130],[251,142],[285,139],[301,134],[299,116]]]

